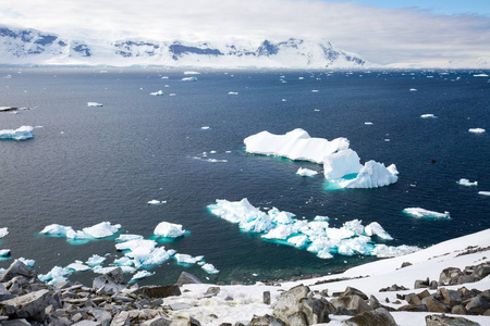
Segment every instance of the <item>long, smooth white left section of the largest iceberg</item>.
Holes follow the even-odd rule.
[[[252,154],[283,156],[294,161],[310,161],[321,164],[326,155],[348,148],[346,138],[328,141],[311,138],[308,133],[297,128],[285,135],[260,131],[244,139],[245,150]]]

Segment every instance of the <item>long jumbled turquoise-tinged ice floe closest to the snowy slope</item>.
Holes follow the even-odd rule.
[[[387,256],[418,250],[416,247],[399,249],[389,246],[383,250],[377,249],[372,237],[393,239],[377,222],[364,226],[362,221],[353,220],[336,228],[329,225],[327,216],[317,216],[308,222],[275,208],[266,213],[252,205],[246,198],[235,202],[218,199],[216,204],[208,205],[208,210],[213,215],[238,224],[244,233],[256,233],[268,241],[305,248],[321,259],[331,259],[335,253]]]

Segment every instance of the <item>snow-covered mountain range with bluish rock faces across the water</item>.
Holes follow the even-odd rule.
[[[36,29],[0,27],[0,64],[206,67],[360,67],[366,61],[327,40],[232,42],[73,40]]]

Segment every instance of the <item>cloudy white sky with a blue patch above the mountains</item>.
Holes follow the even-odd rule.
[[[323,38],[380,64],[490,57],[489,0],[1,0],[0,22],[84,39]]]

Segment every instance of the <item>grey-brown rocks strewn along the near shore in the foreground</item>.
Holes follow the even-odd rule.
[[[407,264],[405,266],[408,266]],[[405,267],[404,266],[404,267]],[[270,291],[264,291],[264,304],[270,306],[271,314],[254,315],[248,324],[230,321],[217,321],[222,326],[266,326],[290,325],[307,326],[327,324],[335,315],[348,316],[345,325],[396,325],[391,312],[438,313],[426,316],[426,325],[479,325],[463,315],[490,316],[490,289],[477,290],[467,287],[490,275],[490,262],[467,266],[463,271],[455,267],[444,268],[439,280],[414,281],[414,292],[396,293],[396,301],[388,298],[381,303],[375,296],[348,287],[343,292],[328,290],[311,291],[308,286],[297,285],[282,291],[275,298]],[[36,272],[14,261],[0,275],[0,323],[1,325],[205,325],[193,316],[179,316],[174,312],[185,310],[187,303],[168,301],[188,291],[184,285],[201,281],[183,272],[174,285],[167,286],[127,286],[121,268],[96,277],[93,287],[62,281],[49,286],[37,278]],[[274,284],[272,286],[279,286]],[[457,290],[446,286],[462,286]],[[195,298],[196,303],[209,304],[221,288],[206,286],[206,292]],[[257,288],[259,290],[259,288]],[[383,291],[406,291],[405,287],[393,285],[380,289]],[[429,290],[433,290],[432,293]],[[275,300],[272,300],[275,299]],[[224,301],[230,305],[235,298],[228,296]],[[206,303],[204,303],[206,301]],[[390,305],[391,304],[391,305]],[[400,305],[397,309],[392,305]],[[462,316],[446,316],[445,313]]]

